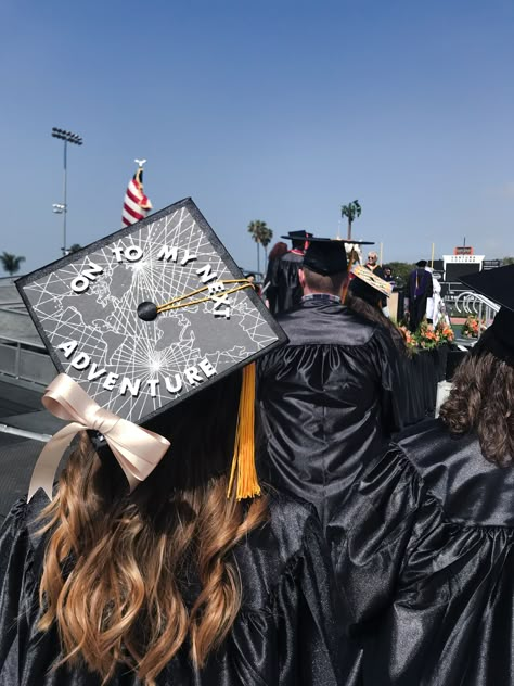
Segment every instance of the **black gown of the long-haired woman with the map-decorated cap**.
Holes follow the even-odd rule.
[[[38,587],[44,541],[34,518],[48,500],[20,500],[0,535],[1,686],[100,686],[86,668],[61,666],[55,630],[40,633]],[[182,649],[158,686],[343,686],[337,677],[340,630],[326,544],[311,508],[275,497],[270,521],[234,548],[242,610],[223,647],[200,673]],[[87,593],[87,588],[85,588]],[[112,686],[136,686],[120,668]]]

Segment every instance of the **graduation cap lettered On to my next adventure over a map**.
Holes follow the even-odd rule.
[[[16,285],[57,370],[137,424],[286,340],[191,199]]]

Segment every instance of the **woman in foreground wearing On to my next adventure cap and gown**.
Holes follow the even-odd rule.
[[[194,203],[17,285],[70,423],[0,532],[0,684],[344,686],[320,523],[255,469],[284,334]]]

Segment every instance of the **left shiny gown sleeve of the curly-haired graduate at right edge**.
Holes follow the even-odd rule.
[[[329,524],[336,583],[350,634],[390,602],[424,507],[424,487],[400,448],[391,446]]]

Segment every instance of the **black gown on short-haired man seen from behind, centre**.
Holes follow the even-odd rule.
[[[389,333],[327,298],[278,318],[288,345],[258,365],[265,480],[318,508],[325,524],[399,428],[398,352]]]

